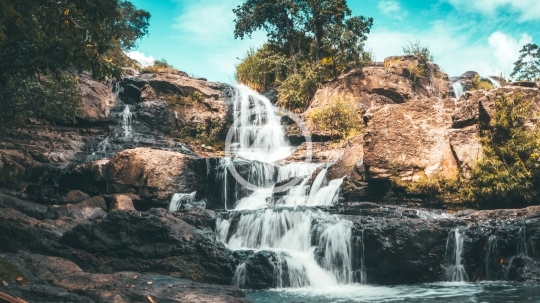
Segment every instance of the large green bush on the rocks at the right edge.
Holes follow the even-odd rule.
[[[484,157],[466,186],[469,200],[484,206],[540,203],[540,129],[536,120],[538,100],[499,95],[495,115],[482,133]]]

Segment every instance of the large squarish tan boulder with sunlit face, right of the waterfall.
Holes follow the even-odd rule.
[[[439,98],[368,111],[364,137],[367,179],[456,178],[458,166],[448,136],[453,111],[454,101]]]

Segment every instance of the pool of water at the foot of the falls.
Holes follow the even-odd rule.
[[[540,285],[507,282],[433,283],[420,285],[347,285],[329,289],[274,289],[248,291],[255,302],[540,302]]]

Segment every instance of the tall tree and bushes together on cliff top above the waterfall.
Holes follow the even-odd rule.
[[[235,38],[264,30],[268,42],[248,52],[236,79],[258,91],[277,88],[279,105],[302,111],[320,83],[365,64],[372,18],[350,16],[344,0],[247,0],[233,10]]]

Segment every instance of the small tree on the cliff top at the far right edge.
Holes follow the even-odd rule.
[[[540,47],[529,43],[519,51],[521,55],[514,63],[514,70],[510,77],[517,76],[516,80],[536,81],[540,80]]]

